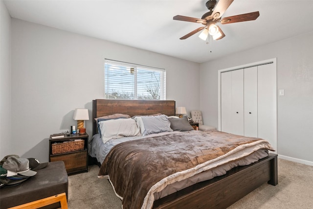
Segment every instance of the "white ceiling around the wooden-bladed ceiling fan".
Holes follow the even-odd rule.
[[[313,31],[313,0],[234,0],[223,17],[259,11],[255,21],[218,24],[225,37],[206,44],[202,26],[173,20],[208,11],[206,0],[4,0],[13,18],[194,62]],[[211,52],[210,52],[211,51]]]

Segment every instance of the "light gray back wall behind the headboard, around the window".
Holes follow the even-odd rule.
[[[199,108],[200,64],[12,19],[12,147],[48,160],[48,137],[76,125],[75,108],[104,98],[104,59],[166,69],[166,99]],[[187,83],[193,83],[192,87]],[[92,133],[91,120],[86,123]]]

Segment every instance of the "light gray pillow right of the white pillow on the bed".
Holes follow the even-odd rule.
[[[135,117],[141,135],[173,131],[166,115]]]

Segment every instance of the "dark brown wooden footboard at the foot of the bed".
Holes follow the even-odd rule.
[[[224,176],[197,183],[156,200],[154,209],[225,209],[268,182],[277,185],[277,155],[269,154],[248,166],[235,167]]]

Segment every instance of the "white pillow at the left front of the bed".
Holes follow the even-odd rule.
[[[140,136],[140,130],[136,121],[132,118],[119,118],[99,122],[102,141],[106,143],[112,138],[122,138],[127,136]]]

